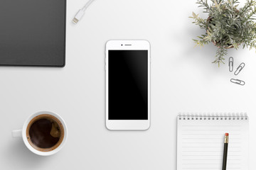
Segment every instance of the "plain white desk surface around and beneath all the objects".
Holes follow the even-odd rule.
[[[95,0],[82,21],[71,20],[85,0],[68,0],[64,68],[0,67],[0,169],[176,169],[176,115],[179,112],[247,112],[250,115],[250,169],[256,169],[256,54],[229,50],[228,64],[212,64],[216,48],[194,47],[204,33],[191,22],[196,0]],[[151,42],[151,128],[113,132],[105,128],[105,42]],[[245,86],[231,84],[245,80]],[[37,111],[59,113],[68,124],[65,147],[51,157],[30,152],[11,130]]]

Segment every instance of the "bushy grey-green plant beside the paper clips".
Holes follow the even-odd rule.
[[[213,43],[218,47],[216,59],[213,63],[223,63],[229,48],[242,45],[242,48],[256,48],[256,23],[254,15],[256,13],[256,1],[247,0],[244,6],[238,8],[238,0],[198,0],[198,7],[203,7],[204,13],[208,13],[208,18],[201,18],[196,13],[192,13],[193,23],[206,30],[206,33],[198,36],[198,40],[193,40],[196,45]]]

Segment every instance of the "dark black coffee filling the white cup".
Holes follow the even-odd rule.
[[[50,115],[39,115],[35,120],[31,120],[27,130],[28,142],[32,142],[31,145],[36,146],[36,149],[50,151],[62,142],[63,125],[54,118]]]

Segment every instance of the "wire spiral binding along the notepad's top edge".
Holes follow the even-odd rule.
[[[178,120],[248,120],[247,113],[179,113]]]

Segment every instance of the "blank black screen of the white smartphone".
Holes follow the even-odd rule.
[[[148,119],[148,51],[108,51],[109,120]]]

